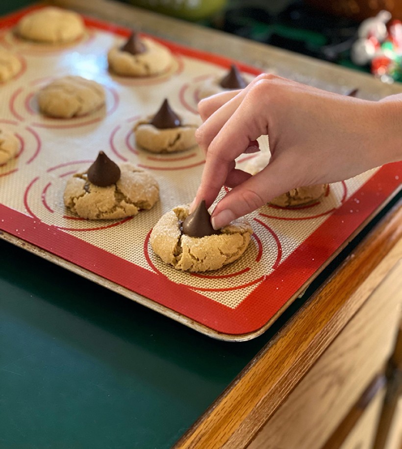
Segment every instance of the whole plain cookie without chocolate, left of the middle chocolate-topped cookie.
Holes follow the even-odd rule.
[[[55,118],[73,118],[90,114],[105,103],[103,87],[81,76],[62,76],[38,92],[42,114]]]

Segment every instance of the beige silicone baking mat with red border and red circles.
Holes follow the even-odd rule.
[[[240,260],[215,272],[179,272],[153,254],[149,236],[163,213],[193,200],[204,156],[198,147],[148,153],[136,147],[132,125],[155,113],[165,97],[176,112],[198,121],[201,83],[225,74],[233,61],[159,40],[174,55],[167,73],[115,76],[107,69],[106,52],[123,44],[131,30],[85,18],[86,34],[72,44],[29,43],[13,29],[30,10],[0,21],[0,45],[21,62],[14,79],[0,85],[0,124],[20,142],[17,157],[0,166],[0,229],[187,326],[227,340],[260,334],[400,187],[402,164],[392,164],[332,184],[320,201],[305,207],[266,205],[249,216],[254,234]],[[259,72],[237,63],[248,76]],[[43,117],[38,89],[67,74],[102,84],[105,107],[81,118]],[[94,221],[65,209],[66,180],[88,168],[100,150],[118,163],[129,161],[152,172],[160,201],[150,211]],[[255,156],[239,164],[248,164],[250,157]]]

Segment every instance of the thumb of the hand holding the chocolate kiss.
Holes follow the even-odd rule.
[[[280,165],[273,161],[262,171],[231,189],[211,214],[214,229],[220,229],[232,220],[255,211],[276,196],[298,187],[293,176],[283,174],[289,173],[289,170],[283,167],[280,169]]]

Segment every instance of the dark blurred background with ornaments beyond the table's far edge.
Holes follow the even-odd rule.
[[[123,1],[402,81],[402,0]]]

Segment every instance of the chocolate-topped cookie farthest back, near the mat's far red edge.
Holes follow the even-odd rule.
[[[126,45],[107,53],[109,69],[121,76],[153,76],[166,72],[172,65],[169,48],[133,33]]]

